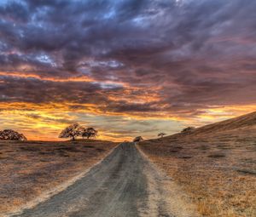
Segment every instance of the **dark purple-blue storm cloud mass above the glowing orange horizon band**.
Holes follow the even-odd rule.
[[[159,100],[112,101],[109,92],[118,97],[125,88],[6,77],[0,83],[1,99],[70,100],[94,102],[114,112],[189,114],[208,106],[255,103],[255,9],[250,0],[2,3],[1,71],[86,75],[98,82],[126,83],[138,97],[144,96],[142,89],[150,89]]]

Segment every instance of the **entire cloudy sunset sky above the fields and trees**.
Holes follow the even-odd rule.
[[[256,111],[256,1],[0,0],[0,129],[174,134]]]

